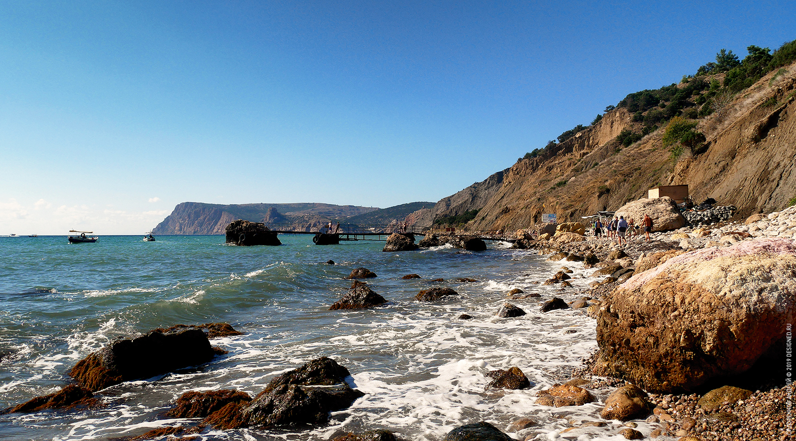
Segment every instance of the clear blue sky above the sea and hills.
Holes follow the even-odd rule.
[[[794,2],[0,2],[0,234],[438,201]]]

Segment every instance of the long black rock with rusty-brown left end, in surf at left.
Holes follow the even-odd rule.
[[[213,347],[203,330],[152,331],[137,338],[113,341],[90,353],[77,362],[69,375],[81,387],[98,391],[123,381],[141,380],[203,365],[214,356]]]

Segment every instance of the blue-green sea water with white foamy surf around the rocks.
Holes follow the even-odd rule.
[[[478,421],[505,431],[519,417],[539,421],[537,439],[556,439],[572,420],[598,418],[599,403],[534,404],[537,392],[567,381],[596,349],[595,322],[584,310],[539,311],[544,299],[576,292],[540,284],[562,263],[500,242],[486,252],[382,252],[384,242],[318,246],[311,237],[282,235],[279,247],[229,246],[223,236],[101,236],[95,244],[68,244],[65,236],[0,238],[0,408],[57,392],[77,361],[115,338],[207,322],[244,332],[213,340],[229,353],[206,365],[99,392],[99,408],[0,416],[0,439],[114,439],[194,424],[163,416],[183,392],[234,388],[255,396],[275,375],[323,356],[349,369],[350,384],[365,392],[351,408],[333,412],[328,425],[209,427],[199,439],[331,439],[385,428],[404,439],[434,440]],[[585,287],[583,270],[568,265],[576,288]],[[388,303],[329,310],[357,267],[378,275],[367,283]],[[401,279],[411,273],[422,278]],[[415,300],[435,286],[459,295]],[[498,318],[514,287],[542,298],[512,300],[528,314]],[[513,366],[531,388],[486,388],[486,373]]]

